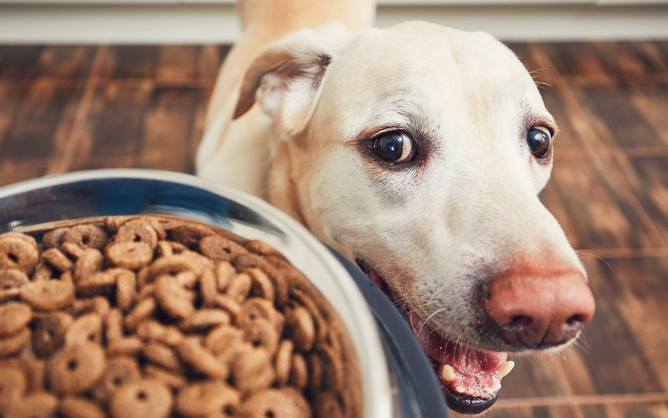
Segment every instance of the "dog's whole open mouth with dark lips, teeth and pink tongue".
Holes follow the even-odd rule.
[[[369,264],[360,259],[357,264],[409,321],[431,359],[447,406],[462,414],[480,414],[494,405],[501,391],[501,379],[514,367],[514,362],[507,361],[507,352],[481,350],[464,345],[458,338],[442,336],[401,303]]]

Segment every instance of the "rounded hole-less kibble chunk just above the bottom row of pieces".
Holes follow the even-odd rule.
[[[253,393],[273,383],[271,355],[264,348],[239,352],[232,366],[232,380],[241,393]]]

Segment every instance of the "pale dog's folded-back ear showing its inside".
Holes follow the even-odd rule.
[[[347,39],[345,26],[330,23],[270,44],[246,71],[233,118],[246,113],[257,99],[287,134],[299,133],[316,107],[329,64]]]

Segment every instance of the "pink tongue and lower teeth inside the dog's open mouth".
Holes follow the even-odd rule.
[[[409,317],[440,381],[451,391],[471,398],[489,398],[499,391],[502,377],[514,366],[513,362],[506,361],[507,353],[457,344],[440,336],[414,312],[410,312]]]

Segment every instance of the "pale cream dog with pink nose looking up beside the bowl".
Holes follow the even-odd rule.
[[[371,28],[369,0],[242,0],[197,153],[356,262],[431,358],[447,404],[498,398],[508,352],[559,350],[592,319],[588,278],[538,199],[557,126],[483,32]]]

